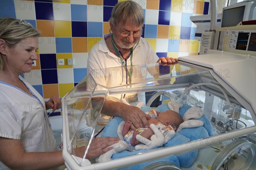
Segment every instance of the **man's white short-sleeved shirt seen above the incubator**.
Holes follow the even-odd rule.
[[[106,40],[111,41],[109,37],[110,34],[105,34],[102,40],[90,50],[87,73],[91,73],[100,85],[114,87],[116,85],[126,84],[126,72],[120,57],[108,49]],[[128,72],[132,71],[132,75],[130,74],[132,83],[141,82],[141,78],[145,78],[147,73],[146,70],[142,70],[136,65],[156,63],[159,59],[148,41],[143,37],[140,37],[140,41],[134,49],[132,57],[127,59],[127,66],[131,65],[131,58],[133,67],[128,67]]]

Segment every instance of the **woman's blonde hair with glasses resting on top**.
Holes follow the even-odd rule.
[[[0,19],[0,38],[5,40],[6,45],[11,48],[28,37],[39,37],[41,32],[33,28],[25,20],[14,18]],[[0,53],[0,69],[3,69],[3,54]]]

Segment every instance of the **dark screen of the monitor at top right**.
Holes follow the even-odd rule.
[[[237,8],[224,9],[221,20],[221,27],[236,26],[243,21],[245,6]]]

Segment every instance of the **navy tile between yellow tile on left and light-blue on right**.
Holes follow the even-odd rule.
[[[87,22],[72,21],[72,37],[87,37]]]

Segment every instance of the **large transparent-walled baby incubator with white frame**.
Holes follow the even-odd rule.
[[[241,32],[227,30],[227,35],[237,33],[238,37]],[[226,44],[224,51],[180,57],[170,66],[156,63],[90,71],[62,99],[67,169],[255,169],[256,38],[254,29],[244,32],[249,33],[253,50]],[[115,107],[107,100],[124,99],[129,105],[140,104],[142,111],[163,111],[170,102],[181,103],[181,116],[196,107],[203,113],[198,120],[204,124],[184,127],[163,147],[125,150],[109,161],[85,159],[92,139],[117,136],[121,118],[106,116],[102,110]],[[126,105],[122,106],[125,111]],[[81,146],[87,148],[83,158],[74,151]]]

